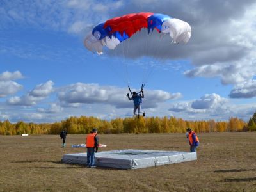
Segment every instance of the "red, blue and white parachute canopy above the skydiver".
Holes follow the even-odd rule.
[[[95,26],[92,33],[84,39],[84,46],[92,52],[102,54],[104,46],[113,50],[118,44],[140,32],[142,28],[147,28],[148,34],[154,29],[159,33],[168,33],[173,43],[186,44],[191,36],[191,27],[183,20],[159,13],[131,13]]]

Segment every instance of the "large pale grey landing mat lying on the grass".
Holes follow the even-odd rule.
[[[109,150],[95,154],[95,165],[108,168],[138,169],[182,163],[196,159],[196,152],[134,149]],[[65,154],[61,162],[86,165],[87,156],[86,153]]]

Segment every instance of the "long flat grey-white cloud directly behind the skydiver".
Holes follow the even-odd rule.
[[[127,99],[127,89],[115,86],[99,86],[99,84],[76,83],[62,88],[58,92],[61,104],[110,104],[116,108],[131,108]],[[170,99],[178,99],[181,93],[168,93],[162,90],[147,90],[143,108],[154,108],[158,103]],[[147,102],[148,100],[148,102]]]

